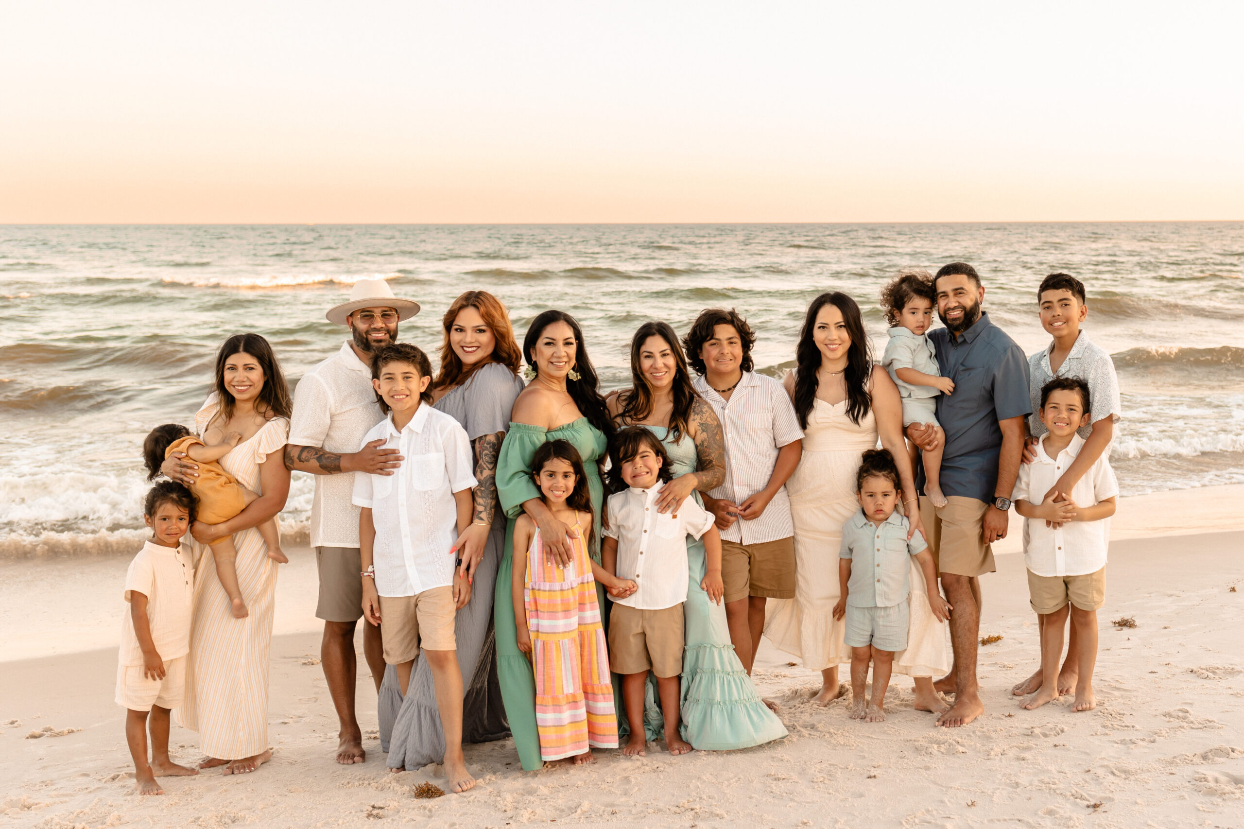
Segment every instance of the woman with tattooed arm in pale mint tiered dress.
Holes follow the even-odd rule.
[[[699,493],[720,485],[725,477],[722,424],[692,387],[678,335],[668,324],[646,322],[636,331],[631,377],[632,387],[611,395],[607,403],[618,426],[644,426],[666,446],[674,478],[662,488],[658,509],[677,509],[688,497],[703,505]],[[688,539],[687,558],[683,739],[700,751],[728,751],[785,737],[786,728],[765,706],[734,652],[725,607],[699,586],[704,543]],[[651,719],[651,710],[647,716]],[[647,724],[651,732],[652,723]]]

